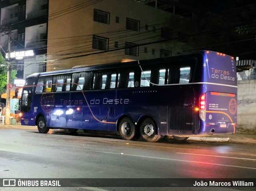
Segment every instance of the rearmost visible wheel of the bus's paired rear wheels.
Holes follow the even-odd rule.
[[[157,142],[161,135],[157,134],[157,127],[151,118],[146,118],[140,124],[140,139],[146,142]]]

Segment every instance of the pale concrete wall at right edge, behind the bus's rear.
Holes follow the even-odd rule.
[[[238,129],[256,131],[256,80],[238,81]]]

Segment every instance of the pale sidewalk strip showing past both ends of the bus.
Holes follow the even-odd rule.
[[[28,129],[28,130],[37,131],[36,126],[24,126],[20,124],[16,124],[16,125],[0,124],[0,128],[18,128],[18,129]],[[188,138],[188,140],[205,141],[205,142],[235,142],[235,143],[256,144],[256,133],[237,130],[235,134],[214,134],[210,136],[190,137]]]

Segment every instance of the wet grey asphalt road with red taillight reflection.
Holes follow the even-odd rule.
[[[64,130],[0,128],[0,178],[255,178],[253,144],[121,140]],[[130,183],[131,185],[133,182]],[[134,183],[135,184],[135,183]],[[136,184],[135,184],[136,185]],[[6,188],[0,190],[131,190],[132,188]],[[180,190],[180,187],[172,190]],[[221,190],[254,190],[222,187]],[[170,188],[133,188],[170,190]],[[194,187],[183,190],[216,190]]]

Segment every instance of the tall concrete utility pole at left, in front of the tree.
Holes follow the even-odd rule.
[[[12,39],[12,28],[8,29],[8,59],[7,59],[7,84],[11,81],[11,39]],[[10,125],[10,89],[6,88],[6,120],[5,124]]]

